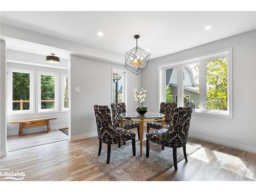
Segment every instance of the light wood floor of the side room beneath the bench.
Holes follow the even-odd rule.
[[[50,133],[39,132],[32,134],[24,134],[22,137],[19,136],[10,136],[7,137],[7,147],[8,152],[14,150],[20,150],[23,148],[53,143],[57,141],[67,140],[68,136],[59,131],[53,130]]]

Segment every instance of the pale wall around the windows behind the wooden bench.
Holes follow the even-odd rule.
[[[35,54],[28,54],[24,52],[18,52],[18,51],[7,51],[7,60],[13,60],[14,61],[24,61],[24,62],[33,62],[33,63],[38,63],[44,65],[46,63],[45,61],[45,56],[42,57],[41,55],[35,55]],[[36,89],[34,90],[34,110],[35,114],[21,114],[21,115],[7,115],[7,135],[12,136],[12,135],[18,135],[18,124],[11,124],[8,123],[9,121],[17,121],[17,120],[26,120],[26,119],[36,119],[36,118],[48,118],[48,117],[57,117],[56,120],[52,120],[51,123],[51,129],[56,130],[56,129],[61,129],[68,127],[68,112],[60,112],[61,111],[61,83],[60,83],[60,74],[65,73],[68,74],[68,70],[63,70],[63,69],[54,69],[51,67],[48,67],[48,63],[45,64],[46,67],[38,67],[34,65],[24,65],[20,63],[11,63],[7,62],[7,67],[11,68],[19,68],[19,69],[30,69],[30,70],[35,70],[34,72],[34,84],[35,87],[37,87],[37,78],[36,78],[36,70],[42,70],[42,71],[48,71],[48,72],[54,72],[54,73],[59,73],[58,75],[58,112],[51,112],[51,113],[37,113],[37,92]],[[68,61],[65,59],[60,59],[60,66],[68,68]],[[8,76],[8,75],[7,75]],[[9,79],[7,77],[7,79]],[[7,94],[9,92],[7,91]],[[33,132],[39,132],[39,131],[45,131],[45,126],[39,126],[39,127],[31,127],[30,129],[25,129],[24,133],[33,133]]]

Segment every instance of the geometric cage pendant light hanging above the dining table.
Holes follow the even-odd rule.
[[[124,67],[139,75],[146,69],[150,60],[150,53],[138,47],[139,35],[135,35],[134,38],[136,39],[136,47],[126,53]]]

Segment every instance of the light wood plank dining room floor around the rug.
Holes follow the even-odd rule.
[[[169,168],[156,181],[256,181],[256,154],[189,138],[203,145],[182,160],[178,170]],[[98,143],[97,137],[74,142],[60,141],[8,153],[1,168],[25,172],[30,181],[108,181],[110,178],[79,152],[84,145]]]

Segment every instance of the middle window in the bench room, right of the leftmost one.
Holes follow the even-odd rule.
[[[38,73],[38,112],[58,110],[58,75],[51,72]]]

